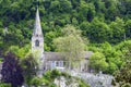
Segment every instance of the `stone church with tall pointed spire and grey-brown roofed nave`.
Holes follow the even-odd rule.
[[[44,51],[44,35],[40,26],[39,11],[36,11],[36,18],[32,36],[32,52],[37,50],[39,54],[39,69],[52,70],[52,69],[66,69],[66,63],[69,61],[64,60],[64,57],[60,52],[46,52]],[[92,51],[86,51],[84,54],[84,60],[80,64],[80,71],[87,72],[88,58],[93,54]]]

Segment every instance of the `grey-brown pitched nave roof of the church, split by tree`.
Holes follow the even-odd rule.
[[[85,51],[84,58],[88,60],[91,55],[93,54],[92,51]],[[66,60],[63,54],[60,52],[45,52],[45,58],[47,61],[59,61],[59,60]]]

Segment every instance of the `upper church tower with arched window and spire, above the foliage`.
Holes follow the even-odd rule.
[[[43,58],[44,55],[44,35],[41,32],[38,8],[36,11],[36,18],[32,36],[32,52],[38,53],[39,58]]]

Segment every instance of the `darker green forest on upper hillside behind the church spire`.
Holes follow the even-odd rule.
[[[124,39],[124,35],[130,39],[130,0],[1,0],[1,54],[12,45],[24,47],[29,44],[37,4],[47,51],[55,51],[52,39],[61,36],[67,24],[80,27],[83,36],[93,44],[118,44]],[[90,26],[83,27],[85,23]],[[5,36],[2,32],[4,28],[8,28]],[[49,38],[48,33],[53,37]]]

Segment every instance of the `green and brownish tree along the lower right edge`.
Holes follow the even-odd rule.
[[[124,47],[123,47],[124,46]],[[131,41],[123,41],[118,45],[122,51],[122,66],[115,73],[116,83],[120,84],[120,87],[131,86]]]

